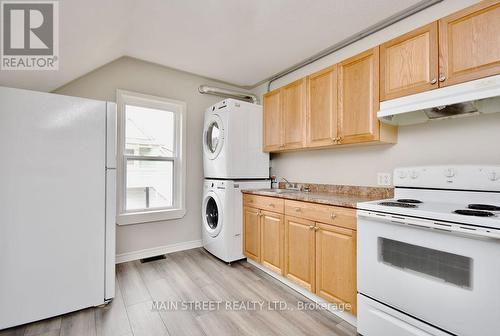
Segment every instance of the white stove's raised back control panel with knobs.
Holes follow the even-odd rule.
[[[422,166],[396,168],[394,186],[500,192],[500,166]]]

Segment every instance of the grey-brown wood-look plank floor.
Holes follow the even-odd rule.
[[[119,264],[116,297],[109,305],[3,330],[0,336],[357,335],[329,312],[298,309],[302,302],[311,303],[249,263],[228,266],[199,248],[149,263]]]

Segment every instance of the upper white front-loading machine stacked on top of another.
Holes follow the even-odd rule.
[[[269,154],[262,151],[262,106],[225,99],[205,111],[205,178],[269,178]]]

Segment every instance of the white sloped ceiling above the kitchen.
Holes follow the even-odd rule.
[[[61,0],[59,71],[1,71],[0,85],[51,91],[127,55],[240,86],[419,0]]]

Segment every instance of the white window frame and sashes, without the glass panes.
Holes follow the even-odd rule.
[[[118,225],[141,224],[179,219],[186,215],[186,103],[163,97],[156,97],[137,92],[116,90],[118,111],[117,141],[117,223]],[[155,160],[150,156],[128,156],[125,154],[125,106],[134,105],[151,109],[174,112],[174,157],[168,161],[174,163],[173,205],[169,208],[126,211],[126,164],[127,158]],[[156,159],[158,160],[158,159]],[[165,159],[161,159],[165,161]]]

